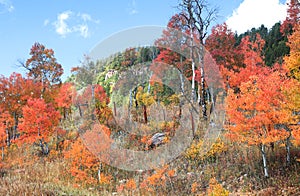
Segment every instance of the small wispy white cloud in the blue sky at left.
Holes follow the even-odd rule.
[[[44,24],[48,24],[44,21]],[[57,20],[52,24],[55,27],[55,31],[62,37],[66,37],[71,33],[78,33],[83,38],[90,36],[89,24],[99,23],[99,20],[94,20],[89,14],[77,13],[72,11],[64,11],[57,15]]]

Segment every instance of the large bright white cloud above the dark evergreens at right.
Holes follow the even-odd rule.
[[[276,22],[285,19],[286,12],[286,3],[282,4],[279,0],[244,0],[226,23],[240,34],[262,24],[271,28]]]

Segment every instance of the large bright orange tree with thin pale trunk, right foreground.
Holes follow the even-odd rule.
[[[240,86],[240,92],[229,91],[227,98],[228,136],[237,142],[259,146],[263,158],[265,177],[268,177],[265,145],[284,140],[289,133],[277,125],[286,124],[288,114],[283,110],[286,102],[285,79],[280,71],[269,68],[250,76]]]

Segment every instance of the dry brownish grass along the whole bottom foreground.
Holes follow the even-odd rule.
[[[118,195],[205,195],[211,178],[231,192],[231,195],[300,195],[300,157],[299,149],[292,150],[293,162],[285,166],[285,151],[282,148],[275,152],[268,151],[270,178],[263,177],[259,150],[254,147],[228,144],[228,150],[215,159],[202,162],[191,162],[184,156],[170,163],[170,169],[176,175],[166,179],[166,186],[155,187],[154,193],[137,188],[123,191]],[[103,185],[86,187],[83,184],[74,186],[67,163],[59,156],[38,157],[30,151],[10,154],[10,162],[0,172],[0,195],[112,195],[122,179],[140,179],[141,181],[153,172],[141,176],[136,173],[116,171],[109,168],[114,176],[109,188]],[[188,163],[188,164],[187,164]],[[139,187],[139,186],[137,186]],[[192,187],[196,190],[192,193]]]

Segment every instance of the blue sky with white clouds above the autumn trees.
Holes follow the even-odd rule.
[[[219,8],[217,23],[241,33],[271,27],[285,18],[285,0],[209,0]],[[136,26],[165,26],[178,12],[177,0],[0,0],[0,74],[23,73],[34,42],[52,48],[65,74],[84,54],[115,32]],[[262,5],[261,8],[257,5]],[[216,24],[216,23],[215,23]]]

